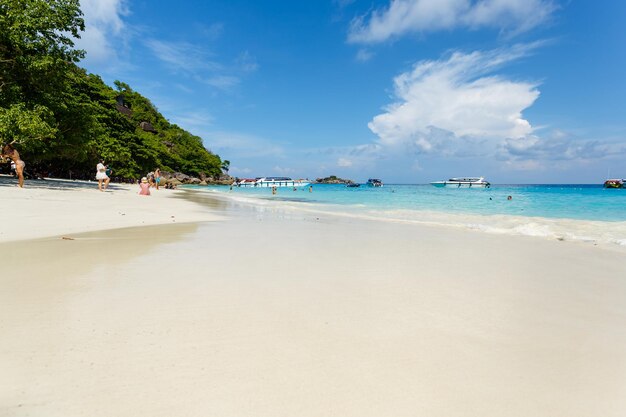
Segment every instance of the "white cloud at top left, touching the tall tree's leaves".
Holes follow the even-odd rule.
[[[124,17],[129,14],[126,0],[82,0],[81,10],[85,31],[76,46],[87,51],[85,59],[94,64],[116,60],[113,43],[123,41]]]

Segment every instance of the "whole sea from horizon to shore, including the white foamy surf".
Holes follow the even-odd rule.
[[[259,208],[283,207],[626,247],[626,189],[601,185],[436,188],[430,184],[385,184],[348,188],[343,184],[313,184],[311,189],[278,188],[276,194],[269,188],[192,188]]]

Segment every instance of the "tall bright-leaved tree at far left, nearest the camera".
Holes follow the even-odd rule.
[[[78,0],[0,0],[0,113],[9,123],[3,128],[5,141],[28,147],[56,131],[51,104],[64,90],[72,63],[84,56],[72,40],[84,30],[81,16]]]

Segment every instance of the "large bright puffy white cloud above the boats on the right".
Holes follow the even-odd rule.
[[[394,79],[396,102],[368,124],[386,147],[405,145],[421,153],[465,147],[485,140],[530,135],[522,116],[539,96],[535,83],[493,75],[525,56],[533,45],[489,52],[455,52],[447,59],[420,61]]]

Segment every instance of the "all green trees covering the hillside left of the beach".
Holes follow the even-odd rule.
[[[90,178],[101,158],[121,178],[228,169],[129,85],[114,89],[78,67],[85,52],[73,40],[83,30],[78,0],[0,0],[0,142],[61,177]]]

